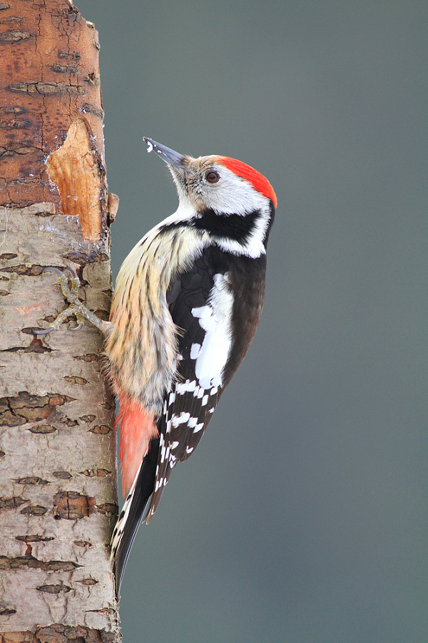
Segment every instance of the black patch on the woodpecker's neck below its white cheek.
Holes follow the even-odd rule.
[[[192,219],[191,225],[200,230],[206,230],[217,239],[231,239],[245,245],[260,219],[260,210],[248,214],[216,214],[212,209],[206,209],[198,219]]]

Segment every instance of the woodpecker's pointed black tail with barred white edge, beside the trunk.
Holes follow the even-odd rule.
[[[114,560],[117,597],[119,597],[121,591],[123,572],[125,571],[129,552],[138,527],[143,520],[144,510],[155,487],[158,451],[159,439],[151,439],[148,453],[143,462],[141,462],[111,537],[111,559]]]

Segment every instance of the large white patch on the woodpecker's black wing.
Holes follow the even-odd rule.
[[[202,346],[193,344],[190,358],[195,359],[195,375],[200,387],[212,389],[223,384],[222,375],[228,361],[231,339],[233,294],[228,284],[228,275],[215,274],[214,286],[205,306],[193,308],[193,316],[199,319],[205,330]]]

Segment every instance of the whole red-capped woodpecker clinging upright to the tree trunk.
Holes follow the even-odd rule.
[[[173,176],[177,211],[123,261],[110,321],[96,323],[76,287],[69,291],[61,282],[72,304],[68,314],[77,311],[78,321],[86,317],[106,334],[120,404],[126,500],[111,538],[118,595],[138,527],[151,521],[175,464],[198,446],[253,340],[277,206],[269,181],[241,161],[183,156],[144,141]]]

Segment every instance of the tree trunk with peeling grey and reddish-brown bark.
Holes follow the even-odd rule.
[[[108,319],[98,49],[68,0],[0,2],[1,643],[120,639],[103,338],[88,322],[32,332],[65,307],[44,266],[76,269],[79,296]]]

